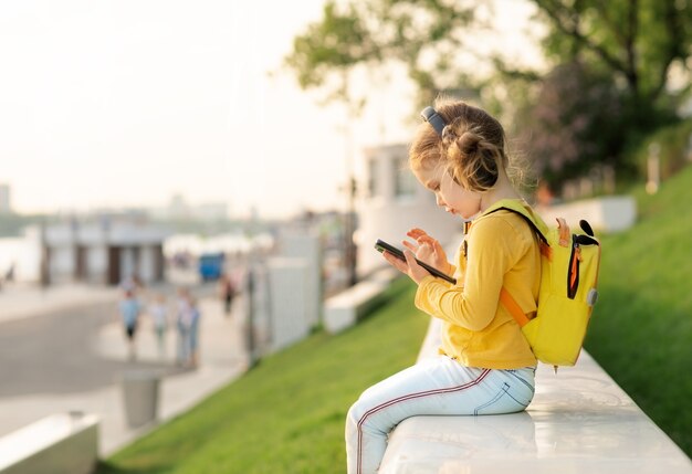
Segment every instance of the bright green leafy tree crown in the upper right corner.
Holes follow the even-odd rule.
[[[692,7],[688,0],[534,2],[549,27],[546,54],[557,63],[586,61],[615,74],[636,107],[656,103],[671,64],[684,63],[690,55]]]

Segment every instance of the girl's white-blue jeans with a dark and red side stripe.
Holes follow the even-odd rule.
[[[348,474],[377,472],[389,432],[409,417],[524,410],[534,396],[534,367],[480,369],[439,356],[374,385],[346,417]]]

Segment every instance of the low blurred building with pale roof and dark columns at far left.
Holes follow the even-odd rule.
[[[43,232],[43,278],[50,283],[116,285],[132,276],[164,280],[164,240],[169,233],[141,220],[51,224]]]

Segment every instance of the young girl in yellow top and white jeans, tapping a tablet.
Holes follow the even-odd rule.
[[[515,213],[521,201],[507,178],[500,123],[463,102],[443,101],[423,110],[409,150],[410,167],[439,207],[473,218],[454,264],[423,230],[407,233],[406,262],[385,259],[418,284],[415,304],[442,319],[439,356],[370,387],[346,420],[348,473],[375,473],[389,432],[424,415],[478,415],[524,410],[534,396],[536,358],[512,315],[500,304],[504,286],[524,313],[536,310],[541,255],[534,232]],[[451,285],[418,265],[415,256],[457,277]]]

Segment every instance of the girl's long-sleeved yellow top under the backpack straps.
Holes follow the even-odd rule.
[[[457,252],[459,283],[427,276],[416,293],[416,306],[443,320],[440,354],[468,367],[515,369],[536,364],[520,326],[500,304],[500,289],[504,286],[531,317],[537,307],[541,254],[533,230],[520,215],[504,210],[489,213],[502,202],[471,224]]]

